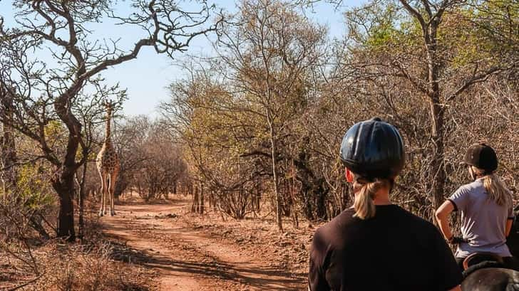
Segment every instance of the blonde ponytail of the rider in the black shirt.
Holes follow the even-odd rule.
[[[353,208],[355,209],[354,217],[363,220],[373,218],[376,213],[374,203],[375,194],[379,189],[388,185],[389,181],[386,179],[375,179],[367,183],[363,183],[357,179],[354,182],[354,189],[359,189],[360,187],[360,190],[355,195],[355,201],[353,203]]]

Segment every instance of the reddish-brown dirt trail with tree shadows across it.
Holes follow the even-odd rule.
[[[187,201],[116,206],[102,218],[105,233],[145,254],[158,275],[158,290],[304,290],[302,277],[262,261],[236,243],[187,222]]]

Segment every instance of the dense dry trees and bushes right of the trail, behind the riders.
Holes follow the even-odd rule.
[[[217,58],[187,63],[171,85],[165,123],[222,210],[243,218],[269,202],[282,228],[284,216],[327,220],[349,205],[342,134],[382,117],[406,141],[394,200],[432,219],[466,181],[458,162],[473,142],[498,150],[517,187],[518,9],[369,1],[346,11],[346,36],[330,41],[283,2],[242,1],[215,38]]]

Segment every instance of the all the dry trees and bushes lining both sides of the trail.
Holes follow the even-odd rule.
[[[143,46],[173,56],[202,34],[216,55],[185,58],[185,75],[170,84],[158,119],[115,116],[116,196],[192,194],[193,211],[272,214],[280,230],[287,221],[327,221],[351,203],[338,157],[342,134],[374,116],[404,136],[406,168],[392,197],[413,213],[433,219],[466,181],[458,162],[478,141],[497,150],[499,174],[517,193],[517,1],[371,0],[344,10],[339,39],[304,13],[313,0],[242,0],[235,14],[217,14],[204,1],[192,14],[169,1],[145,2],[123,18],[112,1],[14,1],[16,26],[0,18],[0,249],[30,278],[43,276],[35,238],[92,233],[83,210],[98,192],[102,103],[111,99],[120,112],[128,97],[102,71],[138,59]],[[130,51],[96,41],[87,26],[103,17],[148,37]],[[47,48],[53,63],[34,57]],[[88,250],[110,264],[105,247]],[[97,268],[83,248],[52,252],[85,256]]]

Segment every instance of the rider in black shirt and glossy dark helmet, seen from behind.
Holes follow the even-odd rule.
[[[389,199],[404,167],[398,130],[378,118],[359,122],[340,156],[354,206],[314,234],[309,290],[461,290],[461,271],[436,227]]]

